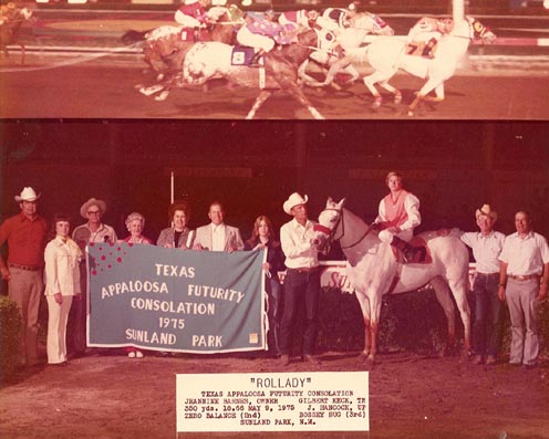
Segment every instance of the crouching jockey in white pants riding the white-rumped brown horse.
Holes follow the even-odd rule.
[[[290,44],[296,33],[296,28],[290,24],[284,27],[274,21],[274,11],[247,12],[245,25],[237,32],[237,41],[249,48],[258,50],[250,61],[250,66],[257,66],[259,59],[270,52],[274,44]]]

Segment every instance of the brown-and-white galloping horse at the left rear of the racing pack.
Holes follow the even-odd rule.
[[[125,44],[145,40],[145,62],[162,81],[166,74],[179,73],[183,59],[197,41],[220,41],[229,44],[235,28],[242,22],[242,11],[237,6],[214,7],[207,11],[214,23],[205,29],[188,29],[180,25],[160,25],[147,31],[130,30],[122,35]]]

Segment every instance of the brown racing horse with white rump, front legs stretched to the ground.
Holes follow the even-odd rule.
[[[224,77],[235,85],[260,88],[253,106],[246,116],[255,117],[257,111],[276,91],[282,90],[307,107],[317,119],[324,117],[311,104],[298,85],[298,69],[318,49],[317,31],[311,29],[297,35],[297,42],[273,49],[263,55],[265,67],[251,69],[232,65],[232,46],[218,42],[196,43],[183,62],[183,81],[201,85],[211,79]]]

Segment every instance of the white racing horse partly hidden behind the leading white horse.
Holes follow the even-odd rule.
[[[329,29],[321,29],[319,33],[321,50],[311,53],[309,59],[299,67],[299,77],[305,84],[317,84],[317,80],[305,72],[309,60],[325,69],[329,69],[336,60],[336,51],[327,50],[325,48],[341,46],[343,51],[356,49],[362,44],[366,44],[369,35],[391,36],[394,35],[394,30],[379,15],[370,12],[359,12],[350,20],[349,28],[341,28],[334,32]],[[343,71],[351,75],[350,82],[354,82],[360,77],[359,72],[352,64],[344,66]]]

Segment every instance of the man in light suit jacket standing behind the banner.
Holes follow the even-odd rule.
[[[240,230],[224,222],[225,210],[219,201],[209,206],[208,218],[210,223],[196,229],[194,250],[226,251],[232,253],[244,250]]]

